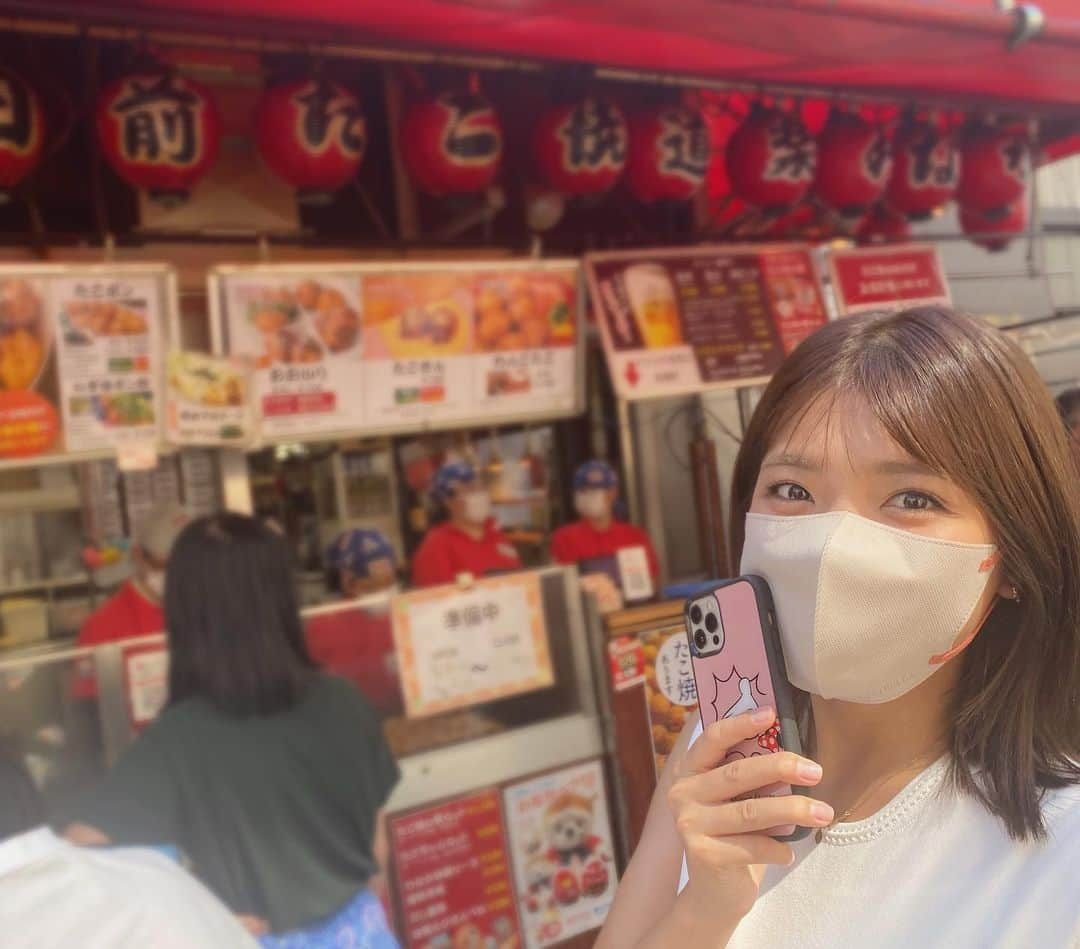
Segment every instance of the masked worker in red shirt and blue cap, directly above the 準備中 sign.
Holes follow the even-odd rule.
[[[431,485],[431,497],[446,511],[443,524],[428,531],[413,558],[413,583],[454,583],[462,573],[485,577],[519,570],[517,551],[491,517],[491,496],[463,462],[444,464]]]

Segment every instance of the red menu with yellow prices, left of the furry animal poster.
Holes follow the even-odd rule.
[[[390,822],[408,949],[521,945],[497,790]]]

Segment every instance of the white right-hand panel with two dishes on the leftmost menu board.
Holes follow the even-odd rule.
[[[161,286],[152,276],[87,274],[49,281],[68,451],[157,443]]]

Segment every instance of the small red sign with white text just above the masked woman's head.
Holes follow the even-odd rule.
[[[829,270],[841,315],[950,301],[933,247],[864,247],[833,250]]]

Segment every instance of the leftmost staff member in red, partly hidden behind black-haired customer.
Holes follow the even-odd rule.
[[[165,632],[165,616],[161,609],[165,568],[176,538],[190,519],[179,504],[164,504],[150,512],[135,532],[132,579],[83,623],[79,631],[79,646],[104,646]],[[73,691],[79,699],[97,695],[97,680],[89,663],[80,668]]]

